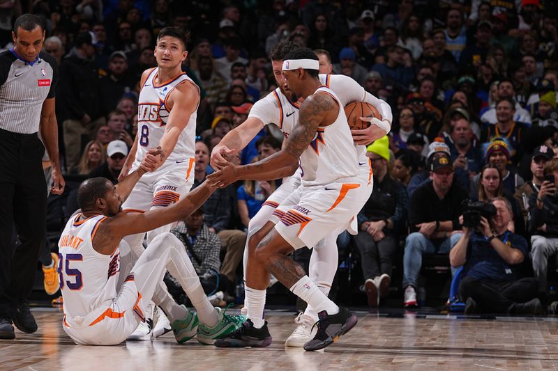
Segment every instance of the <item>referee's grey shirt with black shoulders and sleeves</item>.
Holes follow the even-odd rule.
[[[0,53],[0,129],[38,132],[43,102],[54,97],[57,81],[58,66],[50,54],[40,52],[28,62],[13,49]]]

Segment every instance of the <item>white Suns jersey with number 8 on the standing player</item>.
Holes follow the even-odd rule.
[[[165,125],[169,118],[170,109],[167,107],[167,97],[176,86],[190,81],[195,84],[185,72],[170,81],[156,84],[158,68],[153,68],[147,77],[140,92],[140,99],[137,104],[137,151],[133,169],[140,167],[149,148],[157,147],[160,139],[165,133]],[[188,124],[179,136],[179,140],[174,146],[174,150],[167,157],[165,164],[188,161],[195,154],[195,132],[196,132],[197,109],[190,115]]]

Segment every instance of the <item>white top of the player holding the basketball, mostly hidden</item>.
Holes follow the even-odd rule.
[[[350,77],[342,74],[319,74],[319,81],[335,93],[342,107],[351,102],[365,100],[364,88]],[[299,121],[299,109],[300,105],[297,102],[292,102],[280,88],[276,88],[252,106],[248,117],[258,118],[264,125],[277,125],[287,139]],[[366,146],[355,144],[355,147],[359,164],[367,164]]]

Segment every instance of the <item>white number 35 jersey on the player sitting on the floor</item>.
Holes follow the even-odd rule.
[[[72,216],[64,228],[59,247],[59,280],[68,322],[85,317],[99,306],[109,305],[116,297],[120,249],[103,255],[93,249],[93,237],[107,216],[96,215],[79,221]]]

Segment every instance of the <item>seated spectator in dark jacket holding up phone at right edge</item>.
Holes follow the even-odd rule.
[[[548,258],[558,251],[558,197],[555,179],[558,159],[545,165],[545,177],[538,192],[529,198],[529,232],[534,276],[540,283],[538,290],[546,292]]]

